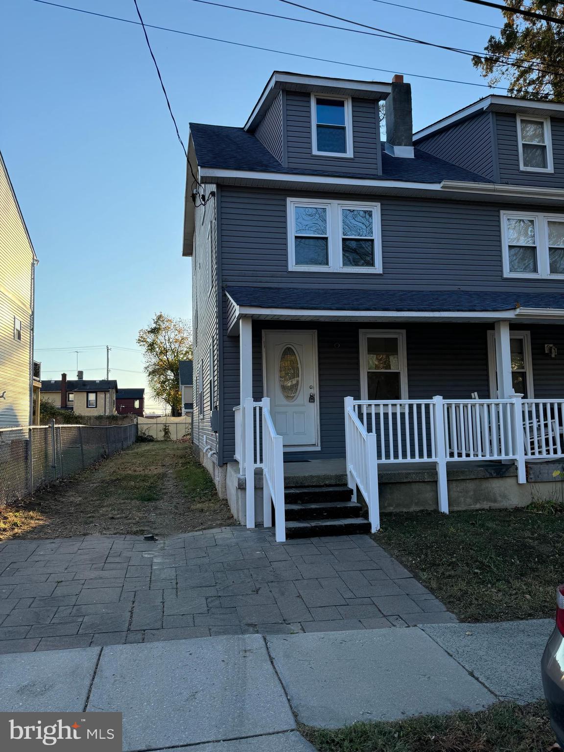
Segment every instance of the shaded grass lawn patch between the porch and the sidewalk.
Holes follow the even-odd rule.
[[[462,621],[553,617],[564,515],[524,509],[384,514],[374,541]]]

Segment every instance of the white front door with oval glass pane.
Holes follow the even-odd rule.
[[[263,332],[265,396],[284,447],[318,444],[317,332]]]

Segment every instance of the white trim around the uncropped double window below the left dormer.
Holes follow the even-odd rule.
[[[287,199],[288,271],[320,271],[343,274],[382,274],[382,242],[380,204],[353,201],[323,201],[321,199]],[[327,265],[296,264],[296,207],[317,206],[327,212]],[[344,266],[342,256],[341,209],[356,208],[372,212],[374,237],[374,266]],[[322,236],[320,236],[322,237]]]

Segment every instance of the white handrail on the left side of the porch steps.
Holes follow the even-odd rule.
[[[270,414],[270,399],[262,399],[262,498],[265,527],[272,526],[277,543],[286,540],[286,510],[284,508],[284,448]]]

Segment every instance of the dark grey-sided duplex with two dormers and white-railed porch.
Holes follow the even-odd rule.
[[[278,539],[525,504],[564,457],[564,105],[412,130],[401,76],[284,72],[190,126],[193,441]]]

